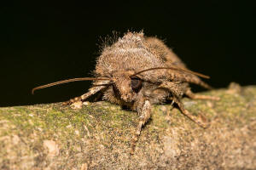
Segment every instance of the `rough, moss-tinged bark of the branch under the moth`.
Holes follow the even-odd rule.
[[[138,116],[118,105],[0,108],[0,169],[256,169],[256,86],[232,83],[202,94],[221,99],[183,103],[210,127],[155,105],[133,156]]]

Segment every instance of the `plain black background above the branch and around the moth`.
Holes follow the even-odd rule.
[[[84,94],[90,82],[34,95],[31,89],[90,77],[100,37],[128,29],[165,39],[189,69],[211,76],[206,82],[215,88],[255,84],[253,10],[251,3],[231,1],[2,4],[0,106],[60,102]]]

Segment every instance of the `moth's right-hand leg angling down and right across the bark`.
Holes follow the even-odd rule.
[[[177,99],[176,97],[174,97],[173,99],[174,99],[174,102],[179,107],[180,111],[183,113],[183,115],[188,116],[189,119],[191,119],[193,122],[197,123],[199,126],[203,128],[207,128],[209,126],[209,122],[207,122],[207,119],[205,116],[192,115],[188,110],[184,108],[183,103],[180,101],[180,99]]]

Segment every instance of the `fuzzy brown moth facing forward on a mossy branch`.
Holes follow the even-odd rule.
[[[206,128],[204,117],[193,116],[183,107],[183,95],[191,99],[215,99],[217,97],[193,94],[189,83],[210,88],[199,77],[209,78],[200,73],[189,71],[183,61],[156,37],[145,37],[143,31],[125,33],[124,37],[102,48],[102,54],[96,60],[95,77],[73,78],[53,82],[38,88],[47,88],[65,82],[91,80],[92,87],[86,94],[64,102],[70,105],[83,101],[96,93],[102,93],[102,99],[111,103],[128,106],[137,111],[139,122],[131,139],[131,154],[134,153],[137,139],[143,125],[148,122],[151,107],[154,104],[171,100],[176,103],[183,115]]]

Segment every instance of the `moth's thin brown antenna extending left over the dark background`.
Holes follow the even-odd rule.
[[[72,79],[67,79],[67,80],[62,80],[62,81],[59,81],[59,82],[52,82],[52,83],[49,83],[49,84],[45,84],[43,86],[38,86],[37,88],[33,88],[32,89],[32,94],[34,94],[34,92],[38,89],[42,89],[42,88],[49,88],[49,87],[52,87],[52,86],[55,86],[55,85],[58,85],[58,84],[63,84],[63,83],[67,83],[67,82],[78,82],[78,81],[86,81],[86,80],[110,80],[109,78],[107,77],[81,77],[81,78],[72,78]]]

